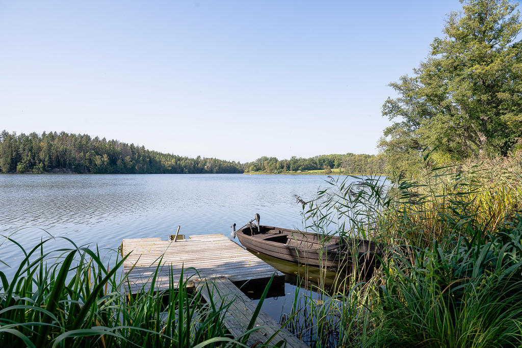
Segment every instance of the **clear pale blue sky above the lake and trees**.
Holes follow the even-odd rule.
[[[0,2],[0,130],[195,157],[377,153],[441,1]]]

